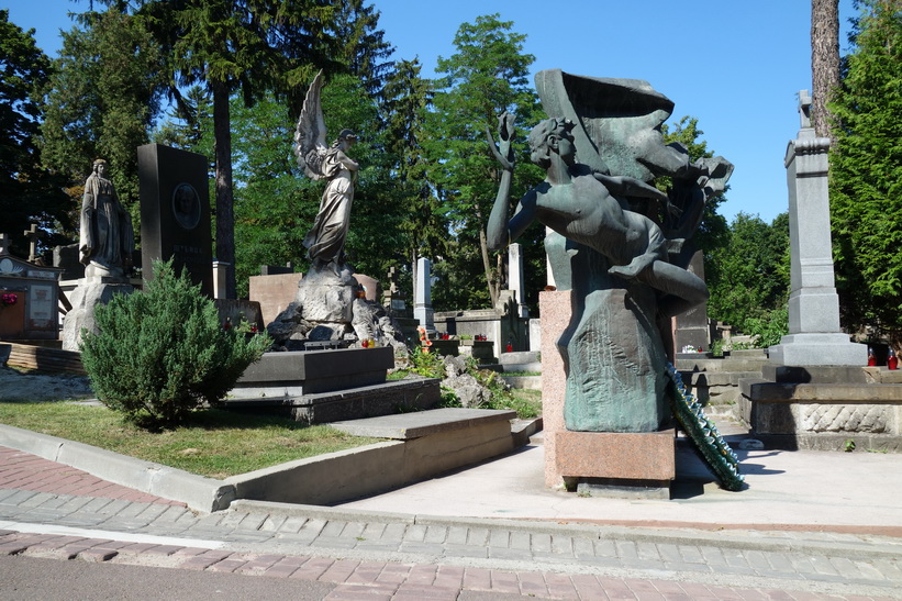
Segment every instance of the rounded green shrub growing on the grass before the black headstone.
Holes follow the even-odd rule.
[[[154,264],[144,291],[98,307],[99,333],[82,333],[81,360],[107,407],[142,427],[178,425],[225,397],[271,341],[223,327],[213,302],[171,261]]]

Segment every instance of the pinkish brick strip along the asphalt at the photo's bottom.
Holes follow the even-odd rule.
[[[780,589],[745,589],[695,582],[609,578],[591,574],[508,571],[477,567],[358,561],[304,555],[230,552],[204,547],[130,543],[0,530],[0,555],[109,561],[270,578],[334,582],[326,599],[447,599],[461,591],[522,594],[539,599],[772,599],[881,600],[890,597],[827,596]]]

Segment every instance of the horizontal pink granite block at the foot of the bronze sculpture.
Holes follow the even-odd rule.
[[[676,476],[673,430],[644,433],[555,434],[556,463],[565,479],[603,478],[605,483],[668,482]],[[588,480],[587,480],[588,481]]]

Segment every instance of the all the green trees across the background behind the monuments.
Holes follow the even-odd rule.
[[[528,81],[533,57],[524,53],[525,36],[513,23],[499,15],[464,23],[455,53],[439,59],[437,79],[427,79],[417,59],[393,57],[379,29],[378,2],[94,4],[104,10],[77,18],[55,60],[0,12],[4,73],[22,69],[19,79],[4,77],[0,98],[4,130],[20,136],[0,156],[0,185],[7,187],[0,202],[34,200],[13,202],[4,212],[4,222],[5,215],[19,215],[22,227],[9,222],[13,236],[36,219],[58,234],[57,241],[74,237],[81,185],[100,156],[111,162],[116,189],[136,216],[134,149],[153,141],[208,157],[216,199],[215,255],[225,261],[233,256],[240,294],[260,264],[291,261],[303,270],[300,241],[316,213],[321,185],[301,177],[291,137],[307,87],[323,68],[331,137],[344,127],[360,136],[354,154],[363,170],[347,240],[352,263],[375,277],[400,266],[401,285],[410,290],[404,278],[412,279],[414,258],[433,259],[438,310],[486,307],[497,298],[506,257],[485,247],[486,207],[498,178],[485,131],[495,127],[501,112],[514,112],[520,125],[515,148],[524,154],[517,157],[515,186],[525,189],[542,178],[525,154],[528,127],[542,118]],[[902,214],[893,202],[902,174],[893,154],[900,136],[892,115],[899,112],[902,62],[894,4],[860,2],[855,51],[831,104],[837,138],[832,159],[837,286],[848,325],[899,323],[902,259],[892,249],[902,236]],[[235,52],[240,46],[244,52]],[[693,158],[711,154],[695,120],[684,119],[665,133],[668,142],[688,146]],[[861,187],[868,188],[865,196]],[[697,240],[708,259],[711,315],[754,330],[784,308],[783,247],[771,248],[760,268],[742,278],[735,277],[731,256],[762,227],[782,244],[783,223],[740,215],[727,225],[716,208],[717,201],[708,208]],[[872,225],[851,227],[866,223]],[[532,305],[546,277],[543,237],[535,227],[524,241]],[[739,305],[747,303],[765,313],[742,314]]]

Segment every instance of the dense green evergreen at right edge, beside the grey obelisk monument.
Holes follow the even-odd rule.
[[[902,342],[902,11],[860,0],[833,97],[831,210],[840,316]]]

